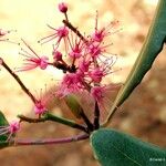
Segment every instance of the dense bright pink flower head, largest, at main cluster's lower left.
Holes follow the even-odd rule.
[[[58,96],[64,97],[70,93],[80,92],[83,89],[82,82],[83,80],[77,73],[65,74],[56,92]]]

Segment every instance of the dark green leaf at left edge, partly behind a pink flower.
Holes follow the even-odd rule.
[[[0,111],[0,126],[8,126],[9,123],[7,121],[7,118],[4,117],[3,113]],[[0,148],[3,148],[6,146],[9,145],[9,143],[7,143],[8,135],[0,135]]]

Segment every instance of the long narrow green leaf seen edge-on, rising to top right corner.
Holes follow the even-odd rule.
[[[110,123],[117,107],[131,95],[133,90],[141,83],[146,72],[152,68],[152,64],[162,51],[165,41],[166,0],[159,0],[147,38],[124,86],[117,94],[110,115],[104,124],[105,126]]]

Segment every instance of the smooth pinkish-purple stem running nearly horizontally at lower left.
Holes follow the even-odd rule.
[[[65,144],[77,141],[83,141],[89,138],[89,134],[76,135],[72,137],[64,138],[45,138],[45,139],[15,139],[13,146],[24,146],[24,145],[52,145],[52,144]]]

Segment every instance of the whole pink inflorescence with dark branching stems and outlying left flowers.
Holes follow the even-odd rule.
[[[90,34],[82,34],[79,29],[70,22],[68,10],[66,3],[62,2],[59,4],[59,11],[64,14],[63,24],[59,28],[53,28],[48,24],[52,33],[39,40],[40,44],[46,44],[52,41],[52,59],[45,54],[38,54],[21,39],[25,46],[21,48],[20,51],[20,54],[24,56],[23,65],[12,71],[2,59],[0,59],[0,64],[6,68],[20,84],[22,90],[30,96],[34,104],[34,114],[39,116],[38,118],[30,118],[21,115],[18,116],[20,122],[38,123],[50,118],[51,121],[60,122],[72,127],[74,126],[90,134],[100,127],[100,113],[103,107],[105,107],[104,101],[107,95],[106,93],[118,87],[116,84],[106,85],[103,83],[103,80],[114,72],[113,65],[117,56],[108,52],[108,48],[112,43],[107,43],[107,38],[120,30],[118,21],[113,21],[106,27],[98,28],[96,12],[94,30]],[[0,29],[0,38],[7,33],[10,33],[10,31]],[[62,50],[62,48],[64,48],[64,50]],[[51,92],[48,97],[42,95],[42,93],[37,97],[21,82],[17,72],[25,72],[37,68],[46,70],[49,65],[62,71],[62,80],[55,92]],[[85,102],[81,102],[83,98],[79,96],[80,94],[86,97],[86,100],[84,100]],[[50,116],[48,102],[50,97],[54,96],[64,98],[75,117],[82,118],[86,125],[72,124],[71,121],[64,122],[65,120],[63,118]],[[90,103],[91,108],[89,108],[89,112],[93,111],[93,120],[85,113],[85,107],[89,107]],[[12,122],[8,126],[1,126],[0,136],[7,135],[8,139],[10,139],[11,136],[19,131],[20,122]]]

